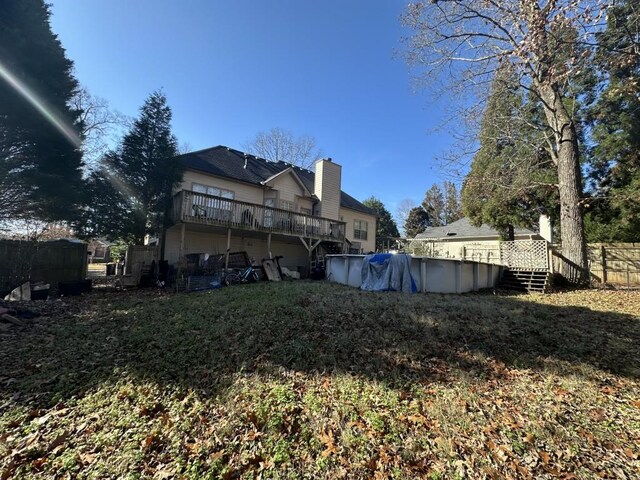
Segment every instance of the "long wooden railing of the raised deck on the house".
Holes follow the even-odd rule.
[[[344,241],[344,222],[181,190],[173,197],[172,220],[199,225]]]

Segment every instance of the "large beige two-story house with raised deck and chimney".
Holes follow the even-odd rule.
[[[246,251],[260,261],[305,271],[326,253],[375,250],[376,214],[341,190],[331,159],[314,172],[225,146],[181,155],[186,170],[174,192],[164,258]]]

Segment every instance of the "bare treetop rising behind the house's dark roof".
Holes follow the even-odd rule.
[[[322,156],[322,150],[314,137],[296,137],[290,131],[277,127],[268,132],[258,132],[244,148],[270,162],[287,162],[302,168],[311,168]]]

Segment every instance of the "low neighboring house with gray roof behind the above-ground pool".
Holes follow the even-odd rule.
[[[541,220],[542,222],[542,220]],[[526,228],[514,230],[514,240],[544,240]],[[416,235],[410,248],[417,254],[443,258],[472,258],[494,261],[500,257],[500,233],[489,225],[471,225],[461,218],[443,227],[429,227]]]

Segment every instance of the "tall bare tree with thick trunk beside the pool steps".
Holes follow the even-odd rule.
[[[407,59],[423,80],[447,79],[450,91],[486,95],[498,67],[510,63],[524,89],[543,105],[551,131],[547,149],[558,171],[563,273],[588,278],[582,178],[571,80],[588,65],[606,0],[424,0],[403,16],[413,30]],[[478,90],[475,91],[477,94]],[[465,105],[470,108],[469,105]]]

